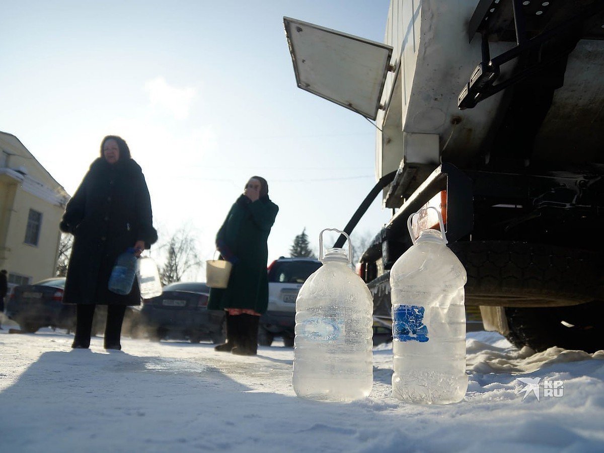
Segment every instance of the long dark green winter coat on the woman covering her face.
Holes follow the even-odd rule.
[[[251,309],[266,312],[268,306],[268,275],[266,241],[275,223],[279,207],[268,195],[252,202],[240,196],[231,207],[216,234],[220,258],[233,263],[226,289],[210,289],[208,309]]]

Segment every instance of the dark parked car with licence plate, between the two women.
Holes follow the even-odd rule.
[[[160,296],[144,299],[141,315],[149,338],[224,342],[225,313],[207,309],[209,295],[205,283],[179,281],[164,286]]]

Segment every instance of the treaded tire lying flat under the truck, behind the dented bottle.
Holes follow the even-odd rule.
[[[458,241],[449,248],[466,268],[466,305],[524,309],[604,300],[596,252],[506,241]]]

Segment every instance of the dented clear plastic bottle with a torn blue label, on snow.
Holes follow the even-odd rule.
[[[406,402],[443,404],[460,401],[467,390],[466,270],[446,246],[434,211],[441,231],[420,231],[390,271],[392,390]],[[428,210],[416,214],[426,218]],[[408,221],[412,239],[416,214]]]

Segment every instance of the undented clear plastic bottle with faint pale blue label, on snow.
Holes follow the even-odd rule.
[[[373,385],[373,299],[344,249],[330,248],[323,266],[296,298],[293,385],[307,399],[347,402],[367,397]],[[347,234],[345,234],[348,237]]]

